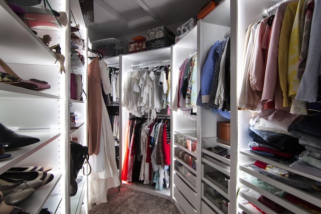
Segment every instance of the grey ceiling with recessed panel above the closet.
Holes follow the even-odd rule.
[[[88,37],[90,41],[96,41],[133,35],[161,25],[168,26],[177,34],[176,28],[197,16],[211,0],[79,0],[79,2],[88,27]],[[92,17],[87,16],[88,11]]]

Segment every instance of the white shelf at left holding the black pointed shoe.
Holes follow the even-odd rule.
[[[61,133],[58,132],[19,132],[19,134],[37,137],[40,139],[40,141],[19,149],[6,151],[6,153],[11,154],[11,157],[0,161],[0,174],[7,171],[11,167],[14,167],[17,163],[23,161],[25,158],[43,148],[61,135]]]

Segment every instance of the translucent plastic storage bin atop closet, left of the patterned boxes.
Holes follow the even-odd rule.
[[[128,54],[128,41],[115,38],[97,40],[92,42],[92,49],[102,53],[104,58]]]

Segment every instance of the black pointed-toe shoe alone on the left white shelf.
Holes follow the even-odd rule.
[[[39,138],[18,134],[0,123],[0,145],[6,151],[28,146],[39,141]]]

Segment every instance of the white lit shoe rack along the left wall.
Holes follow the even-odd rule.
[[[53,10],[66,12],[70,18],[72,10],[78,19],[81,15],[79,2],[72,2],[48,1]],[[34,7],[41,6],[43,3]],[[69,141],[72,136],[86,143],[86,125],[83,122],[86,121],[86,101],[72,101],[69,96],[70,25],[57,22],[56,31],[33,29],[36,35],[4,1],[0,1],[0,18],[0,58],[22,79],[35,78],[51,86],[50,89],[36,91],[0,83],[0,108],[3,111],[0,122],[8,128],[15,128],[19,134],[40,139],[32,145],[6,151],[12,156],[0,161],[0,174],[14,166],[52,168],[49,172],[54,174],[54,179],[37,188],[32,196],[18,204],[19,207],[30,213],[39,213],[42,208],[49,208],[55,213],[79,213],[85,185],[84,182],[80,184],[79,195],[77,192],[74,198],[69,197]],[[85,26],[81,20],[78,22],[83,27],[79,33],[86,38]],[[66,73],[60,72],[56,55],[40,39],[44,35],[51,36],[50,46],[60,45],[61,54],[65,56]],[[85,55],[85,51],[83,53]],[[76,72],[83,74],[86,90],[86,66]],[[71,111],[81,115],[76,127],[70,127]]]

